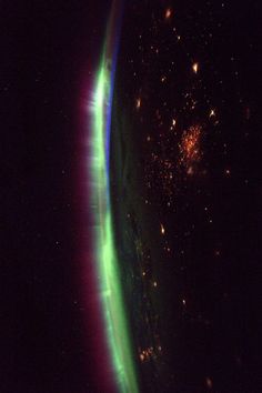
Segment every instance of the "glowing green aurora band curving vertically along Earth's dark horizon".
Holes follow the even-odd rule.
[[[115,6],[115,4],[114,4]],[[98,268],[98,285],[102,303],[104,334],[118,390],[137,393],[139,385],[134,366],[123,291],[120,263],[114,245],[112,209],[110,202],[109,145],[111,101],[114,70],[111,70],[112,11],[102,60],[97,73],[91,110],[91,204],[93,212],[94,258]],[[117,58],[117,56],[115,56]],[[122,262],[122,261],[121,261]]]

